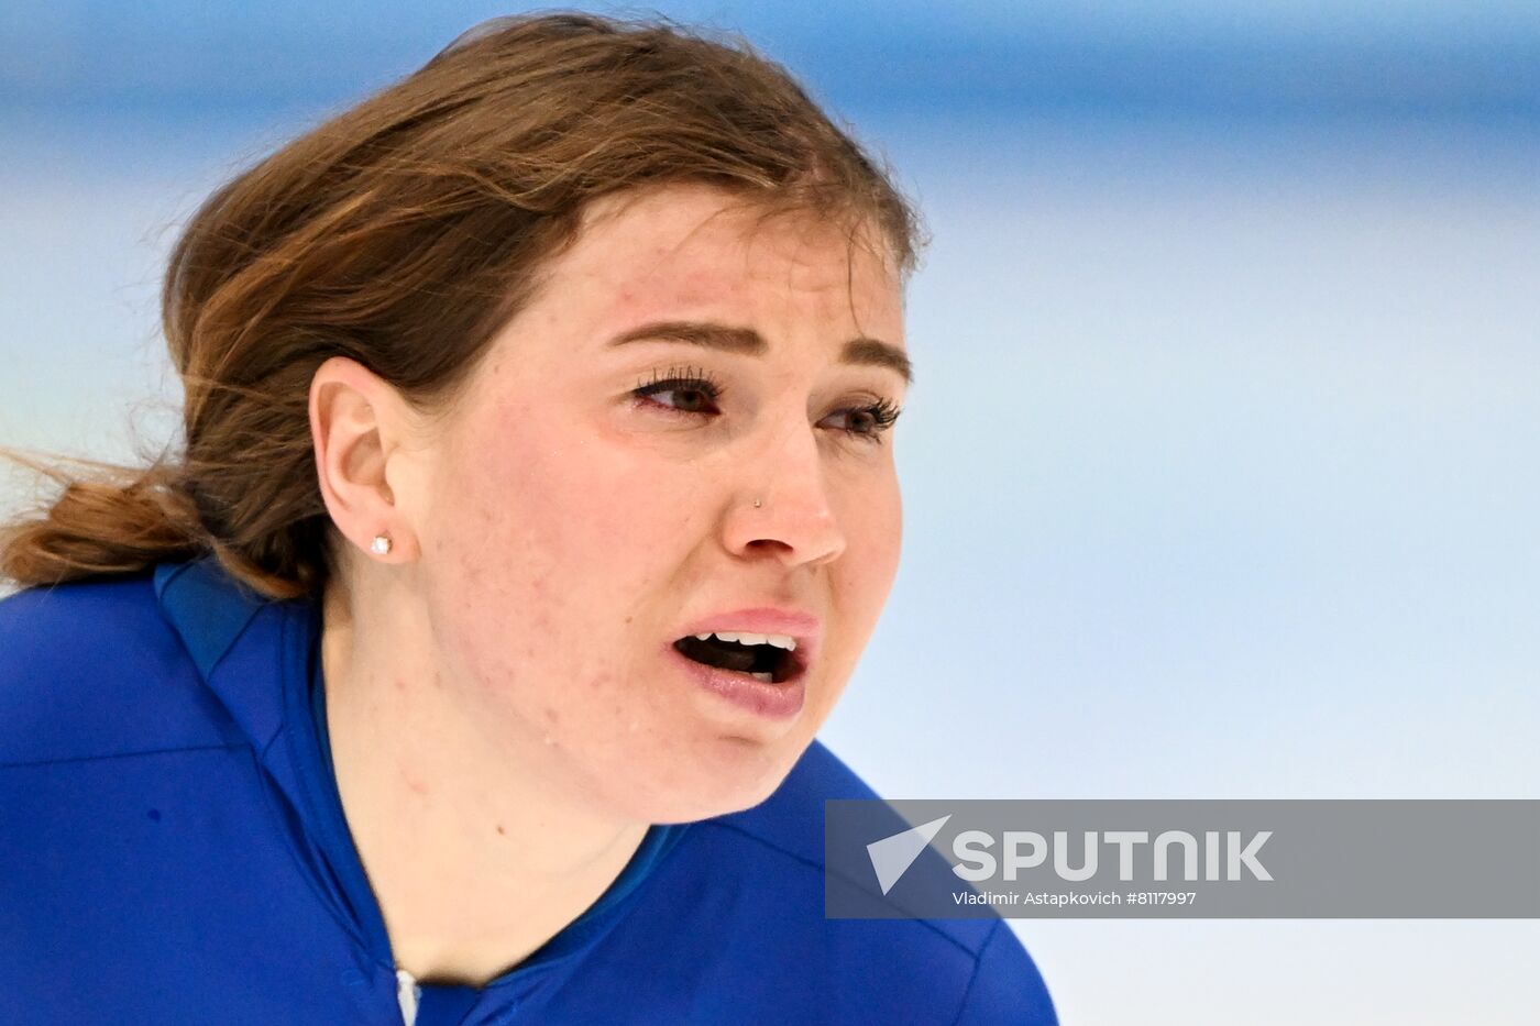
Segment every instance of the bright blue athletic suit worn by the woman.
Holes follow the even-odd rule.
[[[822,801],[875,795],[816,741],[765,803],[654,826],[485,987],[414,989],[337,796],[319,627],[208,558],[0,601],[0,1023],[1056,1023],[998,918],[824,917]]]

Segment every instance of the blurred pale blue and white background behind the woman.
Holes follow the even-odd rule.
[[[517,9],[0,0],[0,445],[171,439],[179,222]],[[822,735],[881,793],[1540,798],[1540,6],[654,9],[787,63],[935,237],[904,565]],[[1013,926],[1069,1024],[1540,1004],[1534,921]]]

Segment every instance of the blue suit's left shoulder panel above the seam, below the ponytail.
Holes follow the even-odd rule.
[[[0,599],[0,766],[223,744],[149,572]]]

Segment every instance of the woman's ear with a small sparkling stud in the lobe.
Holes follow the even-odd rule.
[[[388,468],[407,427],[396,390],[357,360],[333,356],[310,382],[310,434],[320,498],[337,530],[380,562],[407,562],[417,539],[397,505]],[[371,552],[377,535],[390,553]]]

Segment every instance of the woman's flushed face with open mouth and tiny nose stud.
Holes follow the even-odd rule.
[[[898,567],[907,364],[898,279],[844,233],[628,200],[411,458],[410,515],[440,687],[488,749],[665,823],[764,800],[850,678]],[[676,645],[708,632],[768,647]]]

